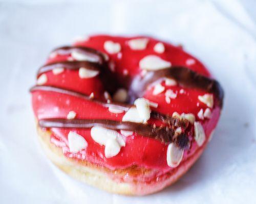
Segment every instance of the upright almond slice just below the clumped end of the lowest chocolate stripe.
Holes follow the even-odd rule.
[[[167,165],[173,168],[179,166],[183,153],[184,149],[180,149],[174,143],[170,143],[167,147]]]

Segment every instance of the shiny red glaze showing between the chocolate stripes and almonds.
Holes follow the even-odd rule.
[[[132,50],[127,44],[127,41],[134,38],[141,38],[141,36],[133,38],[91,36],[89,40],[77,42],[75,45],[92,47],[108,54],[103,48],[103,44],[106,40],[120,43],[121,54],[108,54],[110,57],[109,63],[114,62],[115,74],[117,74],[117,78],[119,80],[125,78],[125,74],[123,74],[125,69],[128,70],[128,75],[131,77],[141,72],[141,69],[139,68],[139,61],[147,55],[159,56],[160,58],[171,62],[172,65],[185,66],[196,72],[206,75],[207,77],[210,77],[208,70],[202,65],[202,63],[185,53],[180,47],[176,47],[163,42],[165,51],[162,54],[158,54],[154,51],[154,46],[157,42],[160,41],[146,37],[149,39],[146,49]],[[121,58],[119,58],[120,55]],[[68,57],[70,56],[56,56],[54,58],[48,59],[47,62],[65,61],[68,59]],[[193,65],[187,65],[186,60],[188,59],[194,59],[195,63]],[[102,86],[98,76],[91,79],[80,79],[78,70],[65,70],[58,75],[54,75],[52,71],[48,71],[46,72],[46,75],[48,81],[44,85],[53,85],[67,88],[88,95],[93,92],[96,98],[102,100],[104,99],[104,87]],[[164,81],[161,84],[165,86]],[[175,99],[171,99],[170,104],[166,103],[164,92],[158,95],[153,95],[153,88],[145,92],[145,98],[158,104],[158,108],[152,108],[152,110],[157,110],[160,113],[169,115],[172,115],[173,112],[178,112],[179,114],[193,113],[196,116],[196,120],[201,121],[203,124],[206,134],[205,143],[207,143],[210,133],[215,129],[215,126],[218,122],[220,116],[220,108],[215,107],[213,110],[211,109],[211,119],[201,120],[197,117],[197,114],[200,109],[205,110],[207,106],[198,100],[198,95],[205,94],[205,91],[193,88],[182,88],[179,86],[165,86],[165,90],[167,89],[172,89],[177,93],[177,97]],[[181,89],[184,90],[184,93],[180,93]],[[121,121],[124,115],[124,113],[111,113],[107,108],[104,108],[101,105],[97,105],[91,101],[67,94],[50,91],[34,91],[32,95],[33,110],[37,119],[66,118],[69,111],[75,111],[77,113],[76,118],[112,119]],[[148,123],[153,122],[157,125],[161,123],[159,121],[154,121],[153,119],[148,120]],[[173,169],[172,167],[169,167],[166,162],[167,145],[155,139],[143,137],[137,134],[124,137],[126,140],[125,147],[121,148],[117,156],[106,159],[104,156],[104,146],[99,145],[91,138],[90,130],[51,128],[51,131],[53,132],[51,141],[56,146],[61,147],[63,153],[70,158],[87,160],[91,163],[104,166],[109,169],[126,168],[132,165],[137,165],[139,167],[152,169],[153,172],[156,172],[154,176],[161,175]],[[79,135],[82,135],[87,140],[88,147],[84,150],[80,150],[76,154],[70,152],[67,139],[69,131],[74,131]],[[203,148],[203,146],[199,147],[193,140],[190,150],[184,151],[182,162],[185,162],[188,157],[193,155],[194,152],[199,148]],[[143,178],[143,180],[147,179],[149,178]]]

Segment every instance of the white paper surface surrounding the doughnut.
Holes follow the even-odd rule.
[[[1,1],[0,203],[255,203],[255,1]],[[203,156],[144,197],[74,181],[37,141],[29,88],[53,47],[81,34],[146,34],[182,43],[221,82],[224,110]]]

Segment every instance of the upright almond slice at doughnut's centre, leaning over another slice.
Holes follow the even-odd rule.
[[[144,122],[150,119],[151,110],[148,100],[145,98],[137,98],[134,101],[134,105],[136,106],[140,118],[143,119]]]

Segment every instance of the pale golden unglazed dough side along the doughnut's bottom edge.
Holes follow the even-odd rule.
[[[214,131],[212,131],[213,133]],[[176,168],[175,172],[165,173],[151,182],[124,182],[120,179],[114,179],[114,175],[118,173],[121,177],[126,173],[133,173],[133,169],[127,168],[121,171],[113,171],[107,168],[98,167],[89,162],[81,162],[73,158],[67,158],[62,149],[51,143],[51,132],[44,131],[37,125],[37,133],[39,142],[44,149],[47,157],[62,171],[66,172],[74,179],[99,189],[108,191],[110,193],[117,193],[123,195],[146,195],[152,194],[162,190],[163,188],[172,185],[180,177],[185,174],[189,168],[197,161],[201,156],[206,144],[195,152],[193,156],[181,163]],[[209,139],[211,136],[209,137]],[[136,172],[137,174],[138,172]],[[147,173],[144,169],[139,172],[139,176],[143,176]]]

